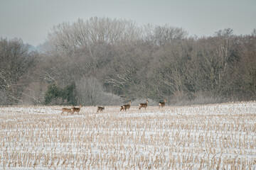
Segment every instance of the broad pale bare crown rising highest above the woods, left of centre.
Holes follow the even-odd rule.
[[[64,52],[71,52],[83,46],[90,49],[90,45],[97,42],[114,44],[122,40],[136,40],[138,37],[139,28],[134,22],[105,17],[60,23],[53,26],[48,34],[48,40],[55,49]]]

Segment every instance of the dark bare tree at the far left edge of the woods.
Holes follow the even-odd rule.
[[[35,62],[34,56],[21,40],[0,39],[0,91],[7,99],[2,104],[20,101],[21,93],[28,84],[28,71]]]

